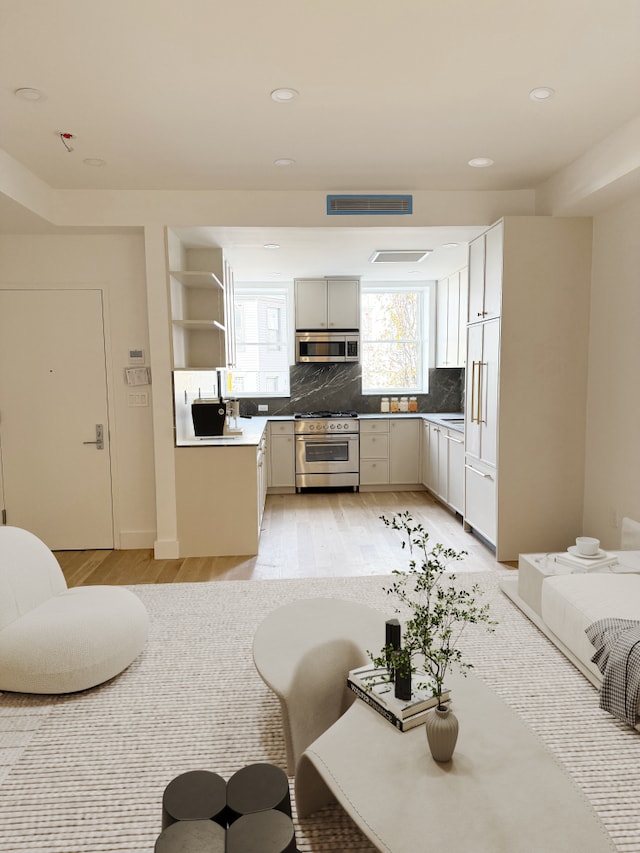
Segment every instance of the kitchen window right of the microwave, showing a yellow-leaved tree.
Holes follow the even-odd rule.
[[[428,393],[434,299],[432,282],[362,285],[363,394]]]

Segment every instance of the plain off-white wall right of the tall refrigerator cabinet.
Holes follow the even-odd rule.
[[[594,218],[584,533],[640,519],[640,194]]]

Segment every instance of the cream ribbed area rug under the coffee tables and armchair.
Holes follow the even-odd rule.
[[[459,576],[482,586],[500,623],[494,634],[470,630],[467,656],[582,789],[616,848],[640,853],[640,734],[598,708],[597,691],[499,591],[504,574]],[[385,583],[377,576],[131,587],[149,610],[151,634],[128,670],[81,694],[0,695],[0,851],[151,853],[174,776],[208,769],[228,779],[255,761],[284,768],[279,705],[252,662],[257,624],[311,597],[363,602],[388,618]],[[508,761],[508,743],[504,750]],[[302,821],[294,802],[294,821],[303,853],[372,850],[339,806]],[[517,849],[514,839],[503,853]]]

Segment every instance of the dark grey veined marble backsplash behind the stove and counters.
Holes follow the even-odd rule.
[[[317,411],[338,412],[352,409],[360,414],[374,414],[380,411],[382,395],[361,392],[360,364],[294,364],[290,371],[291,395],[289,397],[242,398],[241,414],[262,414],[258,412],[258,404],[267,405],[269,415],[293,415],[296,412]],[[462,411],[464,368],[430,370],[429,393],[414,396],[418,399],[419,412]]]

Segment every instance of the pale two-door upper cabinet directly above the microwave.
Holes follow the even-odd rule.
[[[332,331],[360,327],[360,281],[296,279],[296,329]]]

